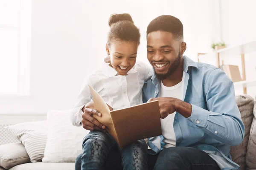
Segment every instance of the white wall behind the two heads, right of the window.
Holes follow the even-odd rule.
[[[130,13],[141,31],[138,58],[146,59],[146,27],[161,14],[184,25],[186,55],[196,60],[217,38],[218,1],[36,0],[32,1],[31,96],[0,97],[0,113],[47,113],[72,108],[83,78],[105,57],[108,18]]]

